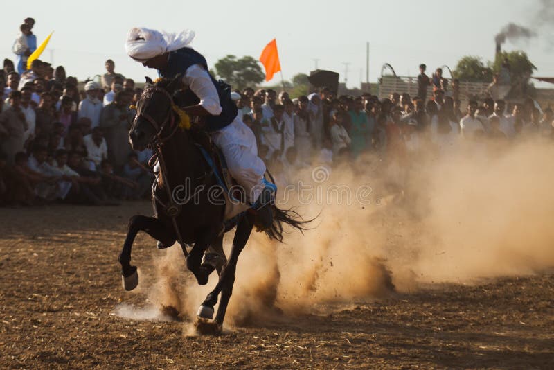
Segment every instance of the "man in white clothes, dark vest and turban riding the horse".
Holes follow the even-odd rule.
[[[265,182],[265,164],[258,157],[256,137],[244,125],[229,91],[208,72],[206,59],[188,46],[193,31],[166,33],[148,28],[131,28],[127,34],[127,54],[145,67],[158,70],[163,78],[182,73],[183,84],[199,98],[197,105],[184,107],[190,116],[205,116],[205,130],[219,146],[233,178],[244,188],[247,200],[257,211],[261,226],[270,227],[274,187]],[[227,86],[229,87],[229,86]]]

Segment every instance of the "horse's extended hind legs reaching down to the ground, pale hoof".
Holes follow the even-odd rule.
[[[244,217],[240,220],[237,231],[235,232],[235,238],[233,239],[233,247],[231,247],[231,254],[229,255],[229,261],[223,267],[220,274],[220,281],[217,282],[212,292],[208,294],[200,308],[197,315],[203,319],[211,319],[213,317],[213,306],[217,303],[217,296],[221,292],[220,306],[217,308],[217,315],[215,322],[220,326],[223,325],[225,318],[225,312],[231,294],[233,293],[233,284],[235,283],[235,271],[237,269],[238,256],[244,246],[247,244],[248,238],[252,231],[253,223],[249,218]]]

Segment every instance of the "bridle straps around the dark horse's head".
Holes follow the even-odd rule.
[[[169,108],[168,111],[165,114],[165,117],[163,119],[162,123],[158,123],[150,114],[145,112],[145,105],[141,105],[141,109],[139,109],[136,112],[136,116],[134,117],[133,123],[135,124],[136,121],[139,120],[139,118],[144,118],[152,128],[156,131],[156,134],[152,136],[152,139],[150,139],[150,142],[148,143],[148,146],[152,147],[152,149],[159,149],[159,146],[161,146],[163,143],[168,141],[179,129],[179,125],[175,124],[175,111],[173,109],[173,98],[171,94],[166,91],[165,89],[162,89],[161,87],[148,87],[143,91],[143,94],[141,96],[141,100],[149,101],[154,94],[160,93],[163,96],[166,96],[169,100]],[[148,104],[146,105],[148,107]],[[162,136],[164,129],[169,125],[170,132],[167,136]]]

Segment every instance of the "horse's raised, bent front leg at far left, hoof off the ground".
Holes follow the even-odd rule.
[[[129,227],[127,228],[127,237],[125,238],[123,249],[118,258],[121,264],[123,288],[125,288],[125,290],[133,290],[136,288],[136,285],[139,285],[139,274],[136,272],[136,266],[131,265],[131,249],[136,234],[141,230],[148,233],[152,238],[160,240],[164,245],[172,245],[175,243],[173,231],[168,230],[166,225],[157,218],[143,215],[134,215],[130,218]]]

